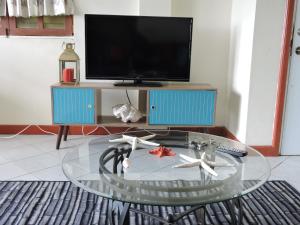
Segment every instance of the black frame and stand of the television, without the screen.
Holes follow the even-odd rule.
[[[162,86],[159,81],[175,81],[175,82],[189,82],[190,74],[191,74],[191,54],[192,54],[192,36],[193,36],[193,18],[192,17],[170,17],[177,19],[189,19],[190,20],[190,39],[189,39],[189,64],[188,64],[188,74],[183,79],[164,79],[164,78],[144,78],[142,74],[136,74],[136,77],[110,77],[110,76],[97,76],[97,77],[87,77],[88,74],[88,58],[87,58],[87,23],[86,18],[90,16],[96,17],[144,17],[144,18],[166,18],[165,16],[134,16],[134,15],[108,15],[108,14],[85,14],[84,15],[84,26],[85,26],[85,72],[87,80],[122,80],[123,82],[114,83],[115,86],[152,86],[159,87]],[[168,17],[167,17],[168,18]],[[124,82],[124,81],[132,80],[133,83]],[[147,81],[147,82],[145,82]],[[149,82],[150,81],[150,82]],[[152,82],[151,82],[152,81]]]

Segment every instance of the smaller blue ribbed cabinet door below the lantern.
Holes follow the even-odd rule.
[[[52,88],[54,124],[94,124],[95,91],[92,88]]]

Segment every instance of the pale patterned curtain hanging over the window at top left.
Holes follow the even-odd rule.
[[[58,16],[74,13],[73,0],[0,0],[0,16]]]

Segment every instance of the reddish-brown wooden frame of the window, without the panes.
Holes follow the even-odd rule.
[[[38,17],[37,28],[17,28],[16,17],[2,17],[0,35],[11,36],[73,36],[73,16],[65,17],[65,29],[44,28],[43,16]],[[4,25],[3,25],[4,24]],[[8,34],[7,34],[8,29]]]

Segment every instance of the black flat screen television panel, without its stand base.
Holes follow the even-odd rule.
[[[192,18],[85,15],[86,78],[189,81]]]

